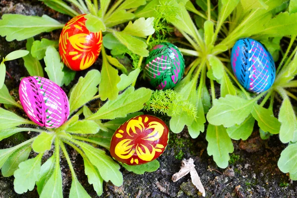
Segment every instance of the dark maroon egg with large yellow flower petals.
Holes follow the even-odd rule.
[[[140,165],[159,157],[169,140],[166,124],[152,115],[139,115],[122,124],[113,134],[111,156],[124,164]]]

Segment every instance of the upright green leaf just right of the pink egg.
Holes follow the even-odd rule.
[[[70,94],[70,114],[94,97],[98,92],[97,86],[100,80],[101,75],[98,70],[91,70],[84,78],[79,78],[78,83],[74,86]]]

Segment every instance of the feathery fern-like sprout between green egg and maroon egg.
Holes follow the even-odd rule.
[[[154,113],[169,113],[170,115],[180,115],[182,112],[186,112],[189,116],[197,117],[196,107],[174,90],[152,91],[144,109]]]

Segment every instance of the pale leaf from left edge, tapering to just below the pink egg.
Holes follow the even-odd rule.
[[[0,131],[9,129],[21,124],[32,124],[31,121],[26,120],[10,111],[0,108]]]

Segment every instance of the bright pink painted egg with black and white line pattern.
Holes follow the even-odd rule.
[[[42,127],[58,128],[69,116],[65,92],[49,79],[39,76],[23,78],[19,96],[28,117]]]

